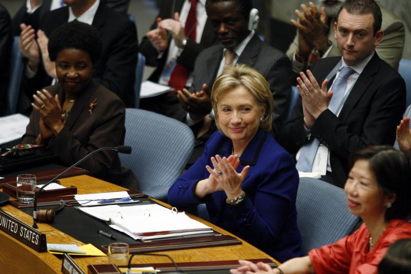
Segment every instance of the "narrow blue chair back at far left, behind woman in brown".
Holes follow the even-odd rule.
[[[20,85],[22,82],[23,74],[23,56],[18,49],[18,40],[20,36],[14,36],[13,47],[11,49],[10,58],[10,82],[7,92],[9,114],[16,113],[18,93],[20,93]]]

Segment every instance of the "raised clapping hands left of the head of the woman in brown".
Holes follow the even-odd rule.
[[[37,31],[37,39],[35,38],[35,31],[32,26],[21,24],[20,40],[18,40],[18,48],[22,55],[28,59],[28,66],[36,73],[40,63],[40,52],[43,61],[44,69],[51,78],[57,78],[55,73],[55,62],[51,62],[48,55],[48,37],[43,30]]]

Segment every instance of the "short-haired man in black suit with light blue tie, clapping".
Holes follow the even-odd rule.
[[[405,109],[405,83],[375,52],[383,36],[381,21],[374,0],[347,0],[334,23],[342,58],[321,59],[297,78],[301,98],[280,143],[298,152],[298,171],[320,173],[343,187],[352,151],[394,143]]]

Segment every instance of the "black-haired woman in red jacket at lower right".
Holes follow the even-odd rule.
[[[356,232],[277,268],[240,261],[243,266],[231,273],[377,273],[390,244],[411,238],[408,160],[402,152],[380,145],[354,152],[350,162],[353,165],[344,187],[347,205],[364,221]]]

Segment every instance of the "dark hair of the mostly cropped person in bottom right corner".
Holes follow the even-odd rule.
[[[378,274],[411,273],[411,239],[400,239],[392,244],[378,265]]]

